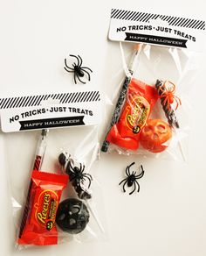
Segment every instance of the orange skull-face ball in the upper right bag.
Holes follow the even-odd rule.
[[[141,146],[150,152],[158,153],[168,146],[163,145],[172,137],[168,123],[161,119],[149,119],[141,131]]]

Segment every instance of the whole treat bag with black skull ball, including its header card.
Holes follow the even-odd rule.
[[[33,95],[11,89],[0,98],[17,249],[106,238],[95,177],[101,92],[92,85],[67,87]]]

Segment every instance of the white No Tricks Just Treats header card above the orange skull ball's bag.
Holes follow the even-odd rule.
[[[205,21],[113,9],[109,39],[201,51]]]

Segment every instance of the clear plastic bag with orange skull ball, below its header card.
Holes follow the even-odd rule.
[[[113,105],[102,152],[186,160],[189,91],[198,54],[187,49],[111,42],[113,72],[107,102]],[[116,64],[117,63],[117,64]],[[129,63],[129,64],[127,64]],[[108,72],[108,71],[107,71]],[[119,86],[117,86],[119,84]],[[111,116],[111,113],[109,114]]]

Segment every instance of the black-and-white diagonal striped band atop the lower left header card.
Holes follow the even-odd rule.
[[[83,91],[40,96],[20,96],[2,99],[0,98],[0,110],[39,106],[41,102],[46,100],[58,100],[59,103],[98,102],[100,101],[100,92]]]

